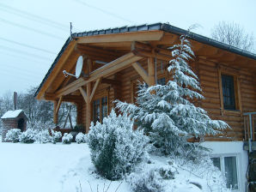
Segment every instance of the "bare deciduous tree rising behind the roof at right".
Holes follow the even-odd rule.
[[[246,33],[244,28],[235,22],[219,22],[212,28],[211,37],[246,51],[255,51],[253,33]]]

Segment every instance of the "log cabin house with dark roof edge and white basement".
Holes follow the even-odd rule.
[[[77,124],[88,132],[91,121],[111,111],[113,100],[135,102],[138,81],[152,86],[169,80],[167,48],[180,43],[181,34],[188,34],[196,55],[190,64],[205,97],[197,105],[232,128],[207,137],[205,145],[213,150],[214,164],[229,172],[233,189],[245,191],[247,150],[255,149],[256,55],[250,52],[162,23],[72,33],[35,96],[54,103],[54,123],[62,102],[76,104]],[[75,73],[79,56],[83,75],[65,77],[63,70]]]

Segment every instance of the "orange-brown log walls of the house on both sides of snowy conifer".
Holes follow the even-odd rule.
[[[143,69],[147,70],[147,60],[140,62]],[[166,70],[167,62],[157,61],[157,77],[169,76]],[[209,61],[198,60],[191,63],[193,71],[198,75],[203,89],[204,100],[196,102],[196,105],[204,108],[212,119],[219,119],[229,124],[231,129],[224,130],[220,137],[207,137],[207,141],[243,141],[244,139],[244,118],[242,114],[247,111],[256,111],[256,88],[255,75],[246,69],[238,70],[241,87],[241,111],[221,111],[220,87],[218,65]],[[228,66],[232,68],[232,66]],[[96,93],[101,95],[102,90],[108,91],[108,111],[114,107],[113,100],[119,99],[131,103],[133,101],[133,86],[138,80],[142,81],[140,75],[132,67],[122,70],[119,75],[109,77],[119,81],[119,87],[101,84]],[[82,123],[85,124],[86,105],[82,105]]]

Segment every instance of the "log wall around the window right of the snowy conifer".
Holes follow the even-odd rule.
[[[241,110],[224,111],[221,110],[220,87],[218,67],[216,63],[197,62],[198,76],[203,89],[204,100],[201,107],[204,108],[212,119],[219,119],[229,124],[231,129],[223,131],[222,137],[208,137],[208,141],[243,141],[244,139],[244,117],[247,111],[256,111],[256,90],[253,81],[253,73],[246,69],[239,69],[239,83],[241,87]],[[229,65],[232,69],[233,66]],[[224,71],[223,71],[224,72]]]

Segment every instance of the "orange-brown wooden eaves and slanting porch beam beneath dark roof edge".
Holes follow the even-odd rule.
[[[85,86],[88,82],[107,78],[107,76],[129,66],[133,66],[146,79],[146,74],[136,62],[147,57],[170,60],[171,53],[167,48],[179,43],[179,37],[178,34],[167,33],[162,30],[76,37],[67,45],[46,81],[40,87],[36,98],[56,100],[63,96],[62,99],[67,101],[75,98],[82,100],[82,94],[72,96],[70,93],[81,91],[80,87]],[[253,58],[241,56],[194,39],[191,39],[191,43],[196,59],[232,65],[237,69],[256,70],[256,60]],[[77,80],[71,76],[65,78],[63,70],[74,73],[76,60],[80,55],[107,62],[107,64],[99,69],[94,69],[86,78],[80,77]]]

